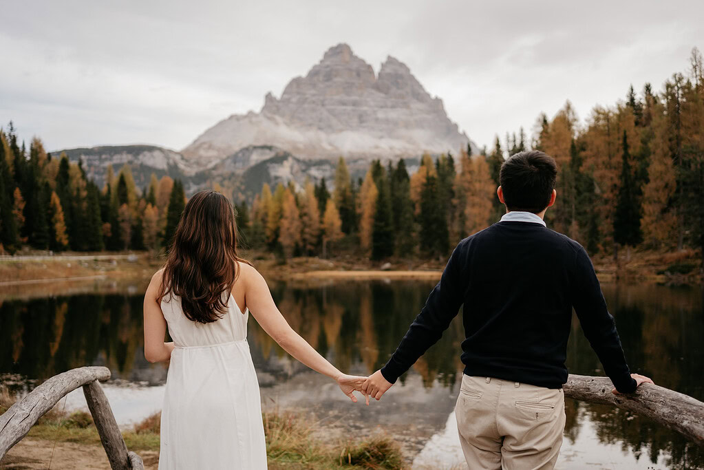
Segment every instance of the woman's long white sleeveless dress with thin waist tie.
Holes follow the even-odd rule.
[[[225,296],[225,293],[223,293]],[[178,296],[161,310],[175,348],[161,410],[159,469],[266,469],[259,384],[247,319],[232,295],[218,321],[191,322]]]

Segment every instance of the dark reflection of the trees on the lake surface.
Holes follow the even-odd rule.
[[[318,286],[273,284],[272,294],[291,326],[344,371],[375,371],[386,362],[425,302],[429,281],[346,281]],[[704,311],[700,288],[604,286],[629,362],[667,388],[704,400]],[[134,290],[133,290],[134,291]],[[152,384],[165,366],[142,353],[142,295],[82,293],[8,299],[0,305],[0,374],[15,390],[58,372],[103,364],[113,377]],[[575,374],[601,375],[601,364],[576,318],[567,366]],[[460,317],[413,367],[427,388],[455,388],[463,329]],[[260,379],[289,381],[305,369],[250,322],[249,343]],[[16,381],[18,374],[25,380]],[[26,379],[30,379],[27,381]],[[401,378],[402,382],[406,376]],[[586,420],[603,443],[617,443],[641,462],[666,451],[670,466],[704,466],[704,451],[662,426],[613,407],[567,401],[565,437],[574,443]]]

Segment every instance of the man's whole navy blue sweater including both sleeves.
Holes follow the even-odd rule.
[[[382,368],[394,383],[464,304],[465,374],[548,388],[567,381],[572,307],[617,390],[636,389],[589,255],[532,222],[497,222],[461,241],[440,282]]]

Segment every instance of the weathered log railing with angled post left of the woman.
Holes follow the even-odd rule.
[[[99,381],[110,379],[107,367],[80,367],[58,374],[34,388],[0,415],[0,459],[37,423],[61,398],[78,387],[88,403],[88,409],[98,429],[101,443],[113,470],[144,470],[139,455],[127,451],[110,403]]]

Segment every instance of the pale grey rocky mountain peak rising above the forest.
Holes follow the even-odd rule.
[[[405,64],[386,58],[377,76],[339,44],[306,77],[291,80],[280,99],[267,94],[260,113],[218,122],[182,153],[203,166],[247,146],[277,146],[302,159],[368,161],[456,153],[469,143],[441,99],[430,96]]]

